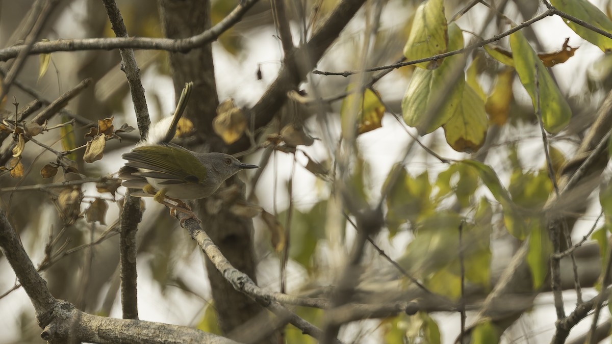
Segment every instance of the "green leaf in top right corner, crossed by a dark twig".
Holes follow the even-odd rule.
[[[610,18],[587,0],[551,0],[550,3],[562,12],[584,20],[586,23],[603,31],[612,33],[612,21]],[[584,28],[584,26],[580,26],[573,21],[566,19],[564,21],[578,36],[597,45],[603,52],[609,53],[612,51],[612,39]]]

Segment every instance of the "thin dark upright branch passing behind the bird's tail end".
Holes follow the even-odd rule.
[[[111,22],[115,36],[128,37],[121,12],[114,0],[102,0],[106,14]],[[120,49],[121,70],[127,77],[132,102],[136,112],[136,121],[140,138],[144,140],[149,130],[149,110],[144,97],[143,84],[140,81],[140,69],[132,49]],[[121,271],[121,306],[124,319],[138,319],[138,298],[136,296],[136,231],[141,220],[140,199],[125,193],[123,214],[121,215],[120,237],[120,271]]]

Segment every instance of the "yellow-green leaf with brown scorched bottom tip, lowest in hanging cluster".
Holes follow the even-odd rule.
[[[489,120],[485,102],[474,89],[466,85],[457,112],[444,127],[446,142],[458,152],[476,152],[485,143]]]

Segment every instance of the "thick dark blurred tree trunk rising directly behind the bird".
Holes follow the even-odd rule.
[[[211,6],[206,0],[160,0],[160,15],[162,17],[165,36],[171,39],[193,36],[211,27]],[[196,135],[209,146],[223,147],[220,138],[212,129],[212,119],[216,116],[218,105],[215,73],[212,64],[212,49],[210,45],[190,51],[187,54],[170,53],[171,73],[174,89],[178,96],[187,81],[193,81],[193,94],[185,116],[197,129]],[[227,184],[234,185],[237,179],[231,179]],[[244,199],[244,187],[238,198]],[[255,255],[253,253],[253,221],[231,214],[230,208],[234,200],[223,200],[223,206],[217,212],[206,211],[205,203],[214,203],[218,199],[202,200],[198,205],[198,214],[203,220],[204,230],[211,236],[228,260],[240,271],[255,279]],[[210,207],[209,207],[210,209]],[[212,297],[218,313],[220,328],[224,333],[230,333],[255,316],[262,316],[263,307],[242,293],[234,290],[211,262],[206,262],[211,281]]]

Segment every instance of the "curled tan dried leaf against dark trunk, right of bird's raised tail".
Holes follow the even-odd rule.
[[[236,142],[247,129],[247,118],[240,108],[228,99],[217,107],[217,117],[212,121],[212,128],[223,138],[226,144]]]

